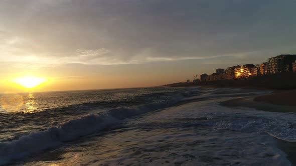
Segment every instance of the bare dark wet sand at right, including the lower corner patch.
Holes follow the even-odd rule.
[[[220,104],[229,107],[250,107],[273,112],[296,112],[296,90],[241,97],[223,101]],[[292,164],[296,165],[296,142],[277,139],[277,146],[287,154],[287,158]]]

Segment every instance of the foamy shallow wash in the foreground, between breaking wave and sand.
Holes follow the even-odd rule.
[[[285,123],[290,123],[294,116],[228,108],[216,101],[219,100],[192,102],[123,120],[124,128],[113,129],[103,137],[92,136],[80,143],[69,144],[70,151],[63,150],[68,147],[61,147],[63,160],[49,162],[76,165],[290,165],[286,154],[276,147],[275,139],[266,131],[288,133],[290,130],[286,130]],[[288,121],[284,120],[286,118]],[[42,163],[43,160],[38,160],[35,164]]]

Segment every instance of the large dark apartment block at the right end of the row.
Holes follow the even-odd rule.
[[[292,62],[296,60],[295,54],[281,54],[268,58],[268,73],[292,71]]]

